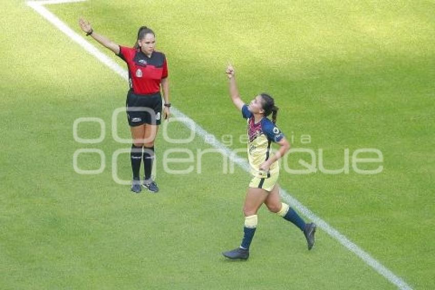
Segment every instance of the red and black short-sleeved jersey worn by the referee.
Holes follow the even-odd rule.
[[[160,92],[160,82],[168,76],[166,57],[154,51],[151,57],[146,56],[140,48],[119,46],[119,57],[128,66],[130,89],[135,94],[148,95]]]

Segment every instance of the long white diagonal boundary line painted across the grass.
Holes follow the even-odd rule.
[[[50,23],[52,23],[56,28],[58,28],[61,32],[66,34],[68,37],[74,40],[78,45],[83,47],[86,51],[94,55],[98,60],[100,60],[104,65],[111,68],[113,71],[115,71],[117,74],[119,74],[122,78],[125,80],[128,80],[128,73],[127,71],[119,66],[113,59],[110,57],[107,57],[105,54],[100,52],[94,45],[90,44],[88,41],[86,41],[81,35],[74,32],[71,28],[69,28],[66,24],[64,24],[56,15],[48,11],[44,5],[47,4],[59,4],[59,3],[72,3],[72,2],[83,2],[86,0],[46,0],[46,1],[28,1],[27,5],[32,7],[36,12],[38,12],[42,17],[47,19]],[[238,164],[241,168],[243,168],[245,171],[250,172],[250,167],[246,159],[238,157],[236,154],[234,154],[233,151],[231,151],[229,148],[227,148],[224,144],[217,141],[217,138],[214,137],[214,135],[208,133],[205,131],[200,125],[198,125],[196,122],[194,122],[192,119],[187,117],[185,114],[183,114],[181,111],[177,110],[176,108],[172,107],[172,114],[178,118],[185,118],[187,121],[184,121],[184,125],[189,128],[190,130],[195,131],[196,134],[200,135],[204,141],[210,146],[217,148],[219,150],[222,150],[222,153],[225,154],[230,160],[232,160],[234,163]],[[191,124],[194,124],[194,128],[192,128]],[[207,138],[208,137],[208,138]],[[209,138],[213,137],[213,138]],[[359,258],[361,258],[367,265],[371,266],[377,273],[384,276],[388,281],[396,285],[400,289],[412,289],[403,279],[396,276],[393,272],[388,270],[384,265],[382,265],[380,262],[378,262],[375,258],[373,258],[371,255],[369,255],[367,252],[362,250],[358,245],[351,242],[349,239],[347,239],[344,235],[342,235],[340,232],[334,229],[331,225],[329,225],[327,222],[316,216],[312,211],[310,211],[305,205],[300,203],[296,198],[292,197],[287,193],[286,190],[280,188],[279,189],[280,195],[282,199],[284,199],[286,202],[288,202],[293,208],[297,209],[299,212],[301,212],[303,215],[305,215],[307,218],[314,221],[320,229],[327,232],[331,237],[336,239],[340,244],[342,244],[344,247],[347,248],[347,250],[351,251],[355,255],[357,255]]]

